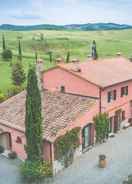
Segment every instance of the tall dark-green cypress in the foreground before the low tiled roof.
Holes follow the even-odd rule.
[[[42,158],[43,140],[41,95],[35,68],[31,68],[28,73],[25,127],[27,159],[28,161],[40,161]]]

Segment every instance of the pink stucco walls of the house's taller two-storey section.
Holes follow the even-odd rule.
[[[43,74],[44,88],[50,90],[60,90],[60,86],[65,86],[66,92],[81,94],[85,96],[99,97],[99,87],[85,81],[61,68],[49,70]],[[121,87],[128,86],[128,96],[120,97]],[[111,103],[107,102],[108,91],[116,90],[117,99]],[[126,112],[126,118],[130,114],[130,100],[132,99],[132,81],[123,82],[112,87],[105,88],[101,92],[101,111],[109,112],[109,116],[114,115],[115,111],[122,109]],[[99,106],[98,106],[99,107]],[[98,110],[99,111],[99,110]],[[132,111],[132,110],[131,110]]]

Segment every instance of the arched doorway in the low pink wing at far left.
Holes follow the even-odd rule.
[[[8,132],[0,134],[0,145],[5,148],[5,150],[11,150],[11,135]]]

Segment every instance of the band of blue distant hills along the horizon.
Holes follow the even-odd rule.
[[[123,30],[131,29],[131,25],[115,24],[115,23],[88,23],[88,24],[71,24],[71,25],[0,25],[1,30],[11,31],[31,31],[31,30],[81,30],[81,31],[94,31],[94,30]]]

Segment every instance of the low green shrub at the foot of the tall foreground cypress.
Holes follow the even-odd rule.
[[[52,176],[52,167],[46,161],[26,161],[20,168],[23,178],[29,182]]]

